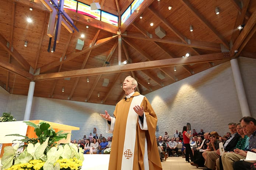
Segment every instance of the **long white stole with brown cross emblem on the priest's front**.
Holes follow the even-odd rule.
[[[125,143],[123,145],[123,155],[122,155],[122,170],[133,169],[133,158],[134,158],[134,147],[136,141],[136,127],[138,114],[134,111],[133,107],[136,105],[141,105],[144,96],[138,95],[134,96],[131,101],[129,108],[129,113],[126,121],[125,130]]]

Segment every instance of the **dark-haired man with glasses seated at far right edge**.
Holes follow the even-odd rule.
[[[248,151],[256,153],[256,120],[253,117],[243,117],[241,120],[241,125],[243,127],[243,130],[246,135],[250,136],[249,140],[249,149]],[[246,157],[247,152],[239,149],[234,150],[235,153],[238,153],[239,155]],[[250,170],[251,165],[253,163],[246,162],[244,160],[239,160],[233,163],[234,170]]]

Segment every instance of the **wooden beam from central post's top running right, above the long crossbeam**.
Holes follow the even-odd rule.
[[[147,40],[147,41],[155,41],[155,42],[159,42],[159,43],[174,44],[174,45],[178,45],[178,46],[194,47],[194,48],[201,48],[201,49],[221,52],[220,44],[209,43],[209,42],[205,42],[205,41],[190,40],[190,43],[186,44],[186,43],[183,43],[180,40],[177,40],[175,38],[168,37],[166,39],[159,39],[158,37],[156,37],[154,35],[152,38],[147,38],[143,34],[136,33],[136,32],[125,32],[122,34],[122,37]]]

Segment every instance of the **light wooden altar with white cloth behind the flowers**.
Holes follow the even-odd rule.
[[[79,127],[69,126],[65,124],[59,124],[54,122],[48,122],[43,120],[28,120],[32,123],[39,124],[39,122],[49,123],[50,126],[55,130],[55,132],[63,130],[65,133],[71,133],[72,130],[80,130]],[[36,133],[34,132],[34,127],[28,126],[24,121],[16,121],[16,122],[0,122],[0,144],[3,144],[1,149],[0,158],[2,158],[4,154],[4,147],[11,146],[13,140],[22,139],[22,137],[17,136],[5,136],[8,134],[20,134],[27,136],[29,138],[37,138]],[[71,140],[71,134],[67,135],[66,140],[60,140],[58,143],[67,144]],[[15,142],[15,141],[14,141]],[[18,141],[16,141],[18,142]]]

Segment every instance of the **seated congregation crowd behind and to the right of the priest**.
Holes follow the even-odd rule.
[[[243,159],[249,151],[256,154],[256,120],[243,117],[240,123],[228,123],[227,126],[229,132],[223,136],[216,131],[204,132],[203,129],[199,133],[195,129],[191,132],[186,126],[182,132],[176,130],[173,135],[165,132],[163,136],[156,137],[161,162],[168,157],[182,156],[192,166],[204,167],[205,170],[239,170],[241,167],[250,170],[255,165]],[[185,144],[186,138],[189,138],[189,145]],[[83,139],[71,142],[81,147],[84,154],[99,154],[111,148],[112,137],[92,136],[90,133],[88,138],[84,135]],[[220,143],[224,150],[222,155]]]

